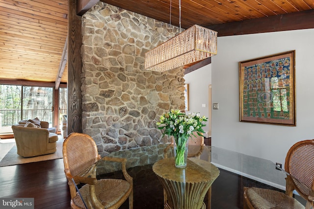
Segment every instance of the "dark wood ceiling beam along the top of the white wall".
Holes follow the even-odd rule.
[[[218,36],[234,36],[314,28],[314,9],[265,18],[207,26]]]

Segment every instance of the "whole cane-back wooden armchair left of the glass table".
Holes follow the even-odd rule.
[[[72,133],[63,142],[64,172],[68,180],[72,209],[117,209],[129,198],[133,208],[133,180],[126,171],[126,159],[104,157],[122,163],[125,180],[96,179],[96,163],[101,157],[95,141],[86,134]],[[82,172],[88,170],[83,176]],[[77,191],[76,185],[85,184]],[[83,201],[82,201],[83,199]]]

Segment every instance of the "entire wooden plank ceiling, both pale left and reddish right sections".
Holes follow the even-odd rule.
[[[171,4],[171,23],[179,26],[179,0],[102,1],[165,23]],[[181,0],[181,26],[210,28],[313,9],[314,0]],[[55,82],[67,14],[67,0],[0,0],[0,79]],[[67,82],[67,66],[61,82]]]

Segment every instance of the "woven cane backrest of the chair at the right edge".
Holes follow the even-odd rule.
[[[309,195],[314,184],[314,139],[299,141],[289,149],[285,170],[291,175],[300,195]]]

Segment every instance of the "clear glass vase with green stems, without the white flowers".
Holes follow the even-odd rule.
[[[188,138],[179,138],[174,140],[175,166],[185,168],[187,160]]]

